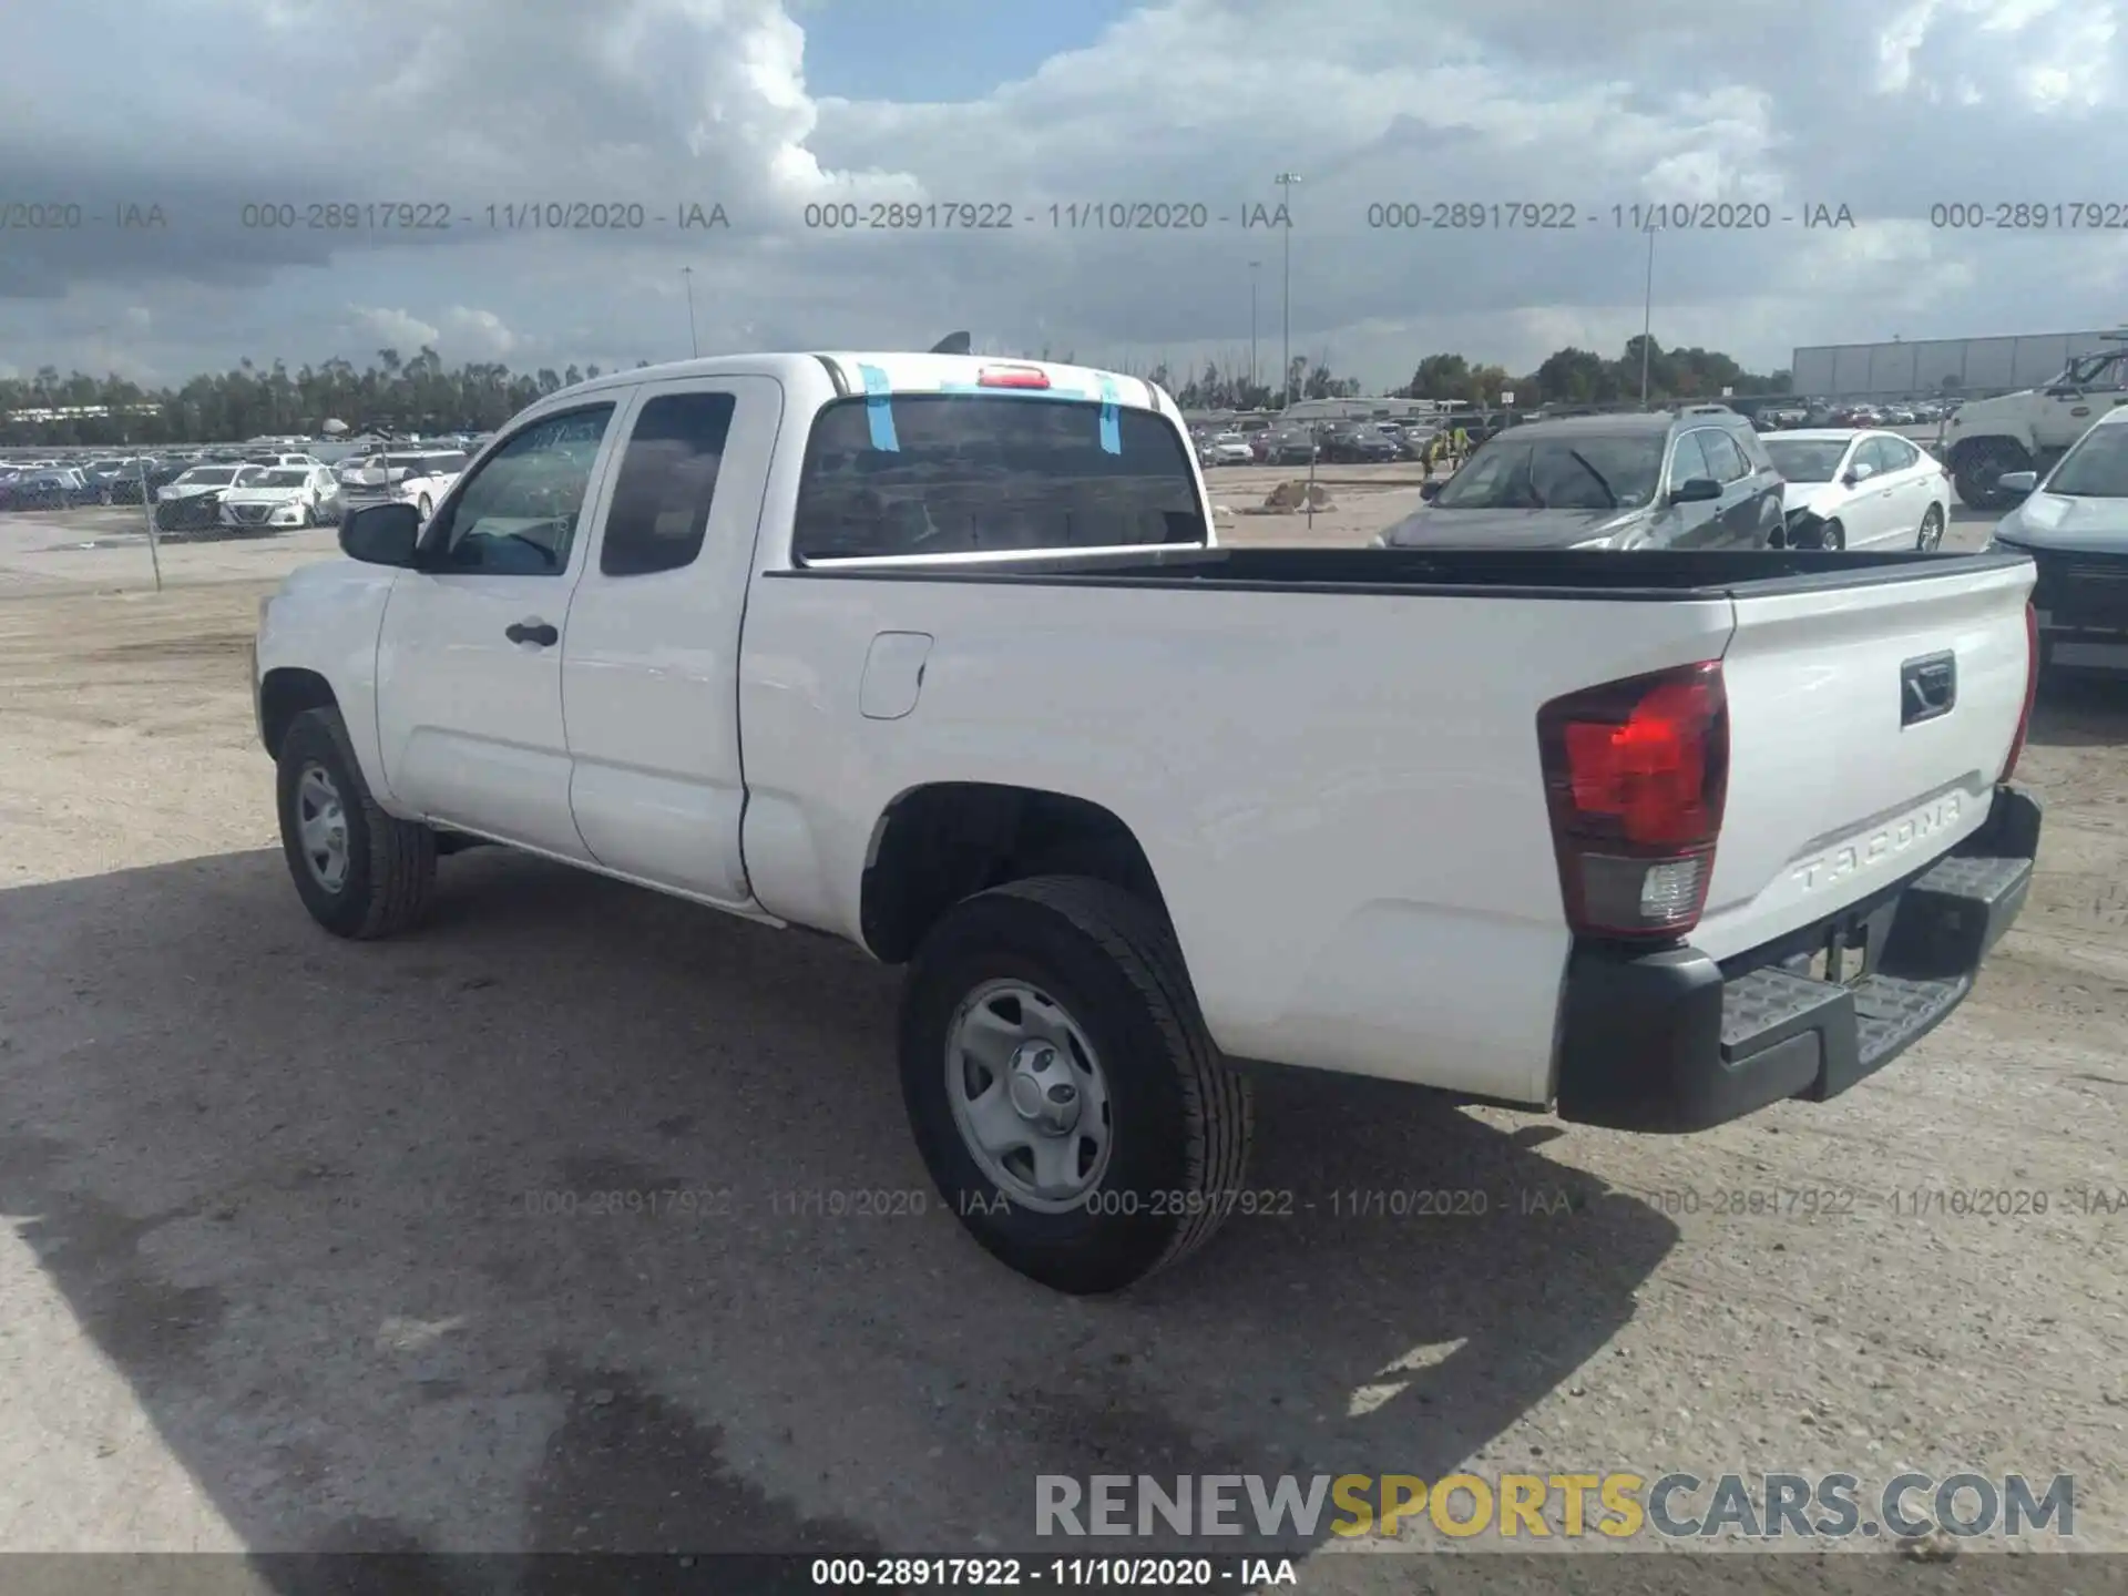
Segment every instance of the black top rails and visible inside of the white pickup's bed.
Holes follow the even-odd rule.
[[[1458,598],[1709,600],[1809,594],[2013,566],[2022,553],[1917,549],[1200,549],[1030,553],[966,564],[834,562],[798,577],[864,581],[1068,583],[1256,592],[1398,592]]]

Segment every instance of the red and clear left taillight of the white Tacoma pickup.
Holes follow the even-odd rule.
[[[1536,711],[1536,743],[1575,934],[1673,938],[1698,926],[1728,796],[1722,662],[1553,698]]]

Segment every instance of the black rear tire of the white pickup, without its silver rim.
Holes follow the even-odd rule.
[[[975,1160],[947,1096],[962,1002],[1017,979],[1102,1062],[1109,1164],[1081,1207],[1036,1211]],[[938,1194],[1000,1262],[1070,1294],[1115,1292],[1202,1247],[1238,1198],[1253,1098],[1204,1032],[1175,932],[1107,881],[1049,875],[977,894],[917,949],[902,990],[902,1100]]]

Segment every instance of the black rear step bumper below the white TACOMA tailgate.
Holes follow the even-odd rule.
[[[1783,1098],[1824,1102],[1934,1030],[2032,887],[2039,802],[1998,787],[1988,824],[1919,877],[1841,919],[1868,975],[1809,975],[1834,921],[1728,962],[1694,947],[1583,947],[1566,966],[1558,1113],[1615,1130],[1707,1130]]]

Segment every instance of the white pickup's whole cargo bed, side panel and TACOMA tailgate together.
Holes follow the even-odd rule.
[[[747,868],[770,913],[862,936],[851,883],[913,787],[1068,794],[1143,845],[1228,1053],[1532,1102],[1573,941],[1541,706],[1722,662],[1728,798],[1694,947],[1734,960],[1985,821],[2032,583],[2015,555],[1713,549],[1177,547],[762,575],[741,717]],[[1902,677],[1943,655],[1956,711],[1902,726]],[[836,826],[804,813],[813,792],[836,794]]]

